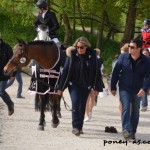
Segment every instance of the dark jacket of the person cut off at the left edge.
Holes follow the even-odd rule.
[[[0,39],[0,81],[8,80],[9,77],[4,75],[3,69],[9,59],[12,57],[12,48]]]

